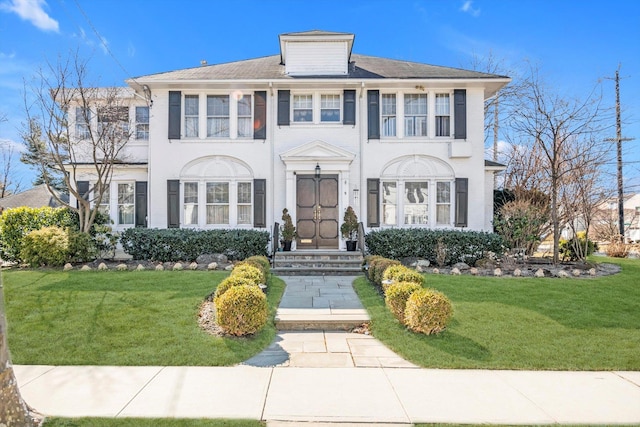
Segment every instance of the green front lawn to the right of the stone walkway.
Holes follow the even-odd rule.
[[[430,368],[640,370],[640,261],[605,259],[622,272],[600,278],[534,279],[427,275],[449,297],[445,332],[408,331],[364,278],[356,292],[373,335]]]

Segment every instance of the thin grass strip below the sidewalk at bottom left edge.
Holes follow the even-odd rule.
[[[47,418],[43,427],[264,427],[255,420],[177,418]]]

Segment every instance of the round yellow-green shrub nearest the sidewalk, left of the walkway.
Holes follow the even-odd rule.
[[[227,334],[253,334],[267,323],[267,297],[257,286],[233,286],[215,305],[216,322]]]

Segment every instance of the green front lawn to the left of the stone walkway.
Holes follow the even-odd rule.
[[[272,277],[271,320],[249,338],[198,327],[198,307],[227,276],[207,271],[2,272],[12,360],[26,365],[225,366],[275,337],[284,282]]]

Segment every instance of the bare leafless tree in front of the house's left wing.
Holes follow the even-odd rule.
[[[43,172],[51,190],[49,168],[60,171],[70,200],[58,202],[76,211],[80,231],[88,232],[102,197],[111,182],[113,168],[122,163],[131,136],[130,94],[122,88],[101,88],[88,84],[87,62],[72,54],[40,70],[25,96],[27,124],[23,140]],[[89,172],[88,172],[89,171]],[[91,177],[88,192],[78,188],[80,175]],[[81,192],[82,191],[82,192]]]

